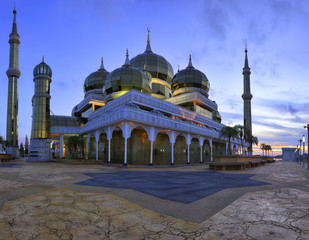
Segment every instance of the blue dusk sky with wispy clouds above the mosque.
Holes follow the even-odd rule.
[[[14,2],[20,35],[19,142],[30,138],[33,68],[52,68],[51,111],[70,115],[84,98],[85,78],[112,71],[143,53],[147,28],[153,52],[177,72],[188,65],[210,82],[222,123],[243,124],[244,49],[259,143],[296,147],[309,123],[309,1],[307,0],[3,0],[0,2],[0,136],[6,136],[9,34]],[[307,139],[306,139],[307,142]],[[255,148],[255,152],[258,152]]]

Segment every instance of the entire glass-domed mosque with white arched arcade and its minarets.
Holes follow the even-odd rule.
[[[13,13],[7,71],[7,139],[12,152],[18,147],[18,99],[12,93],[20,76],[15,9]],[[84,81],[84,98],[72,106],[71,115],[58,116],[50,111],[52,69],[43,58],[33,70],[29,161],[70,157],[71,136],[78,136],[80,157],[111,164],[203,163],[226,155],[228,139],[219,134],[224,125],[216,102],[209,98],[210,82],[193,62],[190,55],[188,66],[174,73],[171,63],[152,50],[148,30],[144,52],[130,58],[127,50],[124,64],[114,70],[105,69],[102,58],[99,69]],[[250,74],[246,50],[242,98],[244,125],[252,134]],[[252,152],[249,143],[236,138],[231,148],[234,153]]]

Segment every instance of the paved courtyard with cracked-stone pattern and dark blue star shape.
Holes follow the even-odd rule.
[[[0,239],[309,239],[309,171],[15,160],[0,165]]]

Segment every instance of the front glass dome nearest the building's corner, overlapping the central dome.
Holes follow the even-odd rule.
[[[131,89],[150,94],[151,84],[144,72],[131,66],[127,50],[125,64],[121,68],[117,68],[107,75],[103,87],[103,93],[108,96],[112,93],[119,92],[117,96],[120,96],[120,92],[125,93]]]

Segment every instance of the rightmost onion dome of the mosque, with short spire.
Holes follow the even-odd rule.
[[[176,73],[172,80],[173,96],[199,91],[208,97],[209,87],[210,84],[206,75],[193,67],[191,55],[188,67]]]

